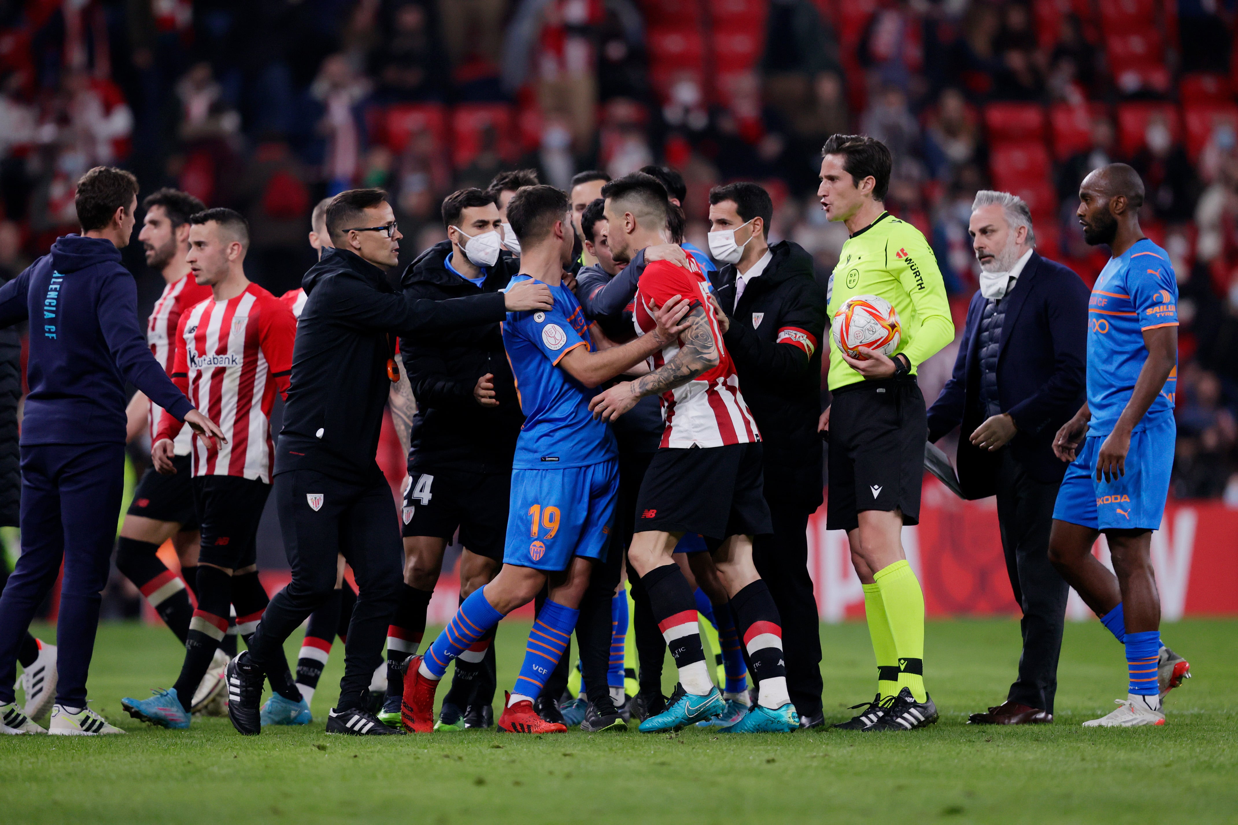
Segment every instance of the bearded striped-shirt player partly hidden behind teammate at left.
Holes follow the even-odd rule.
[[[189,215],[206,207],[191,194],[177,189],[158,189],[142,200],[146,216],[137,240],[146,250],[146,265],[163,276],[163,293],[155,302],[146,323],[146,343],[156,360],[172,374],[176,353],[176,325],[193,304],[210,297],[210,287],[198,284],[189,273],[184,256],[189,251]],[[167,416],[141,392],[134,393],[126,408],[128,438],[132,440],[149,428],[151,443]],[[198,516],[189,484],[189,437],[186,428],[176,439],[173,461],[178,472],[161,475],[147,468],[137,487],[116,539],[116,569],[137,588],[163,623],[184,644],[189,632],[189,589],[197,586]],[[160,545],[172,539],[181,560],[181,575],[160,560]],[[193,709],[199,710],[222,689],[228,657],[220,652],[194,693]]]

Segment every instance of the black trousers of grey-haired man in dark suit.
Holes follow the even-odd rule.
[[[1003,449],[997,472],[1002,549],[1014,599],[1023,610],[1023,654],[1010,700],[1054,712],[1057,657],[1070,588],[1049,562],[1057,484],[1036,481]]]

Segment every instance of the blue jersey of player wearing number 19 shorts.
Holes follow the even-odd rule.
[[[508,286],[529,280],[527,275],[517,275]],[[550,291],[553,308],[509,312],[503,324],[503,345],[525,413],[513,464],[517,470],[587,466],[619,455],[610,425],[589,412],[595,393],[558,369],[563,356],[577,346],[593,349],[589,324],[571,289],[557,286]]]

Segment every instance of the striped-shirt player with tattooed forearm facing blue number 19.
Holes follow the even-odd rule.
[[[602,197],[615,257],[631,260],[636,250],[666,240],[670,204],[656,178],[640,172],[618,178],[603,187]],[[640,730],[677,730],[727,707],[704,662],[692,588],[672,558],[685,533],[699,533],[730,597],[735,630],[759,685],[756,705],[721,730],[794,731],[800,720],[786,691],[779,613],[753,566],[753,536],[773,532],[763,495],[760,433],[739,391],[708,281],[696,259],[688,259],[686,267],[666,262],[645,267],[635,298],[636,328],[650,330],[654,319],[647,307],[673,294],[691,302],[688,329],[652,356],[651,372],[617,383],[589,403],[600,421],[613,421],[643,397],[656,395],[666,421],[636,497],[628,559],[649,594],[680,683],[670,706],[643,721]]]

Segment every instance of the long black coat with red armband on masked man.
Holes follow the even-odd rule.
[[[761,430],[765,495],[816,510],[821,505],[821,338],[826,293],[812,277],[812,256],[799,244],[770,247],[773,260],[748,282],[735,306],[735,267],[711,272],[730,317],[723,343],[739,390]]]

